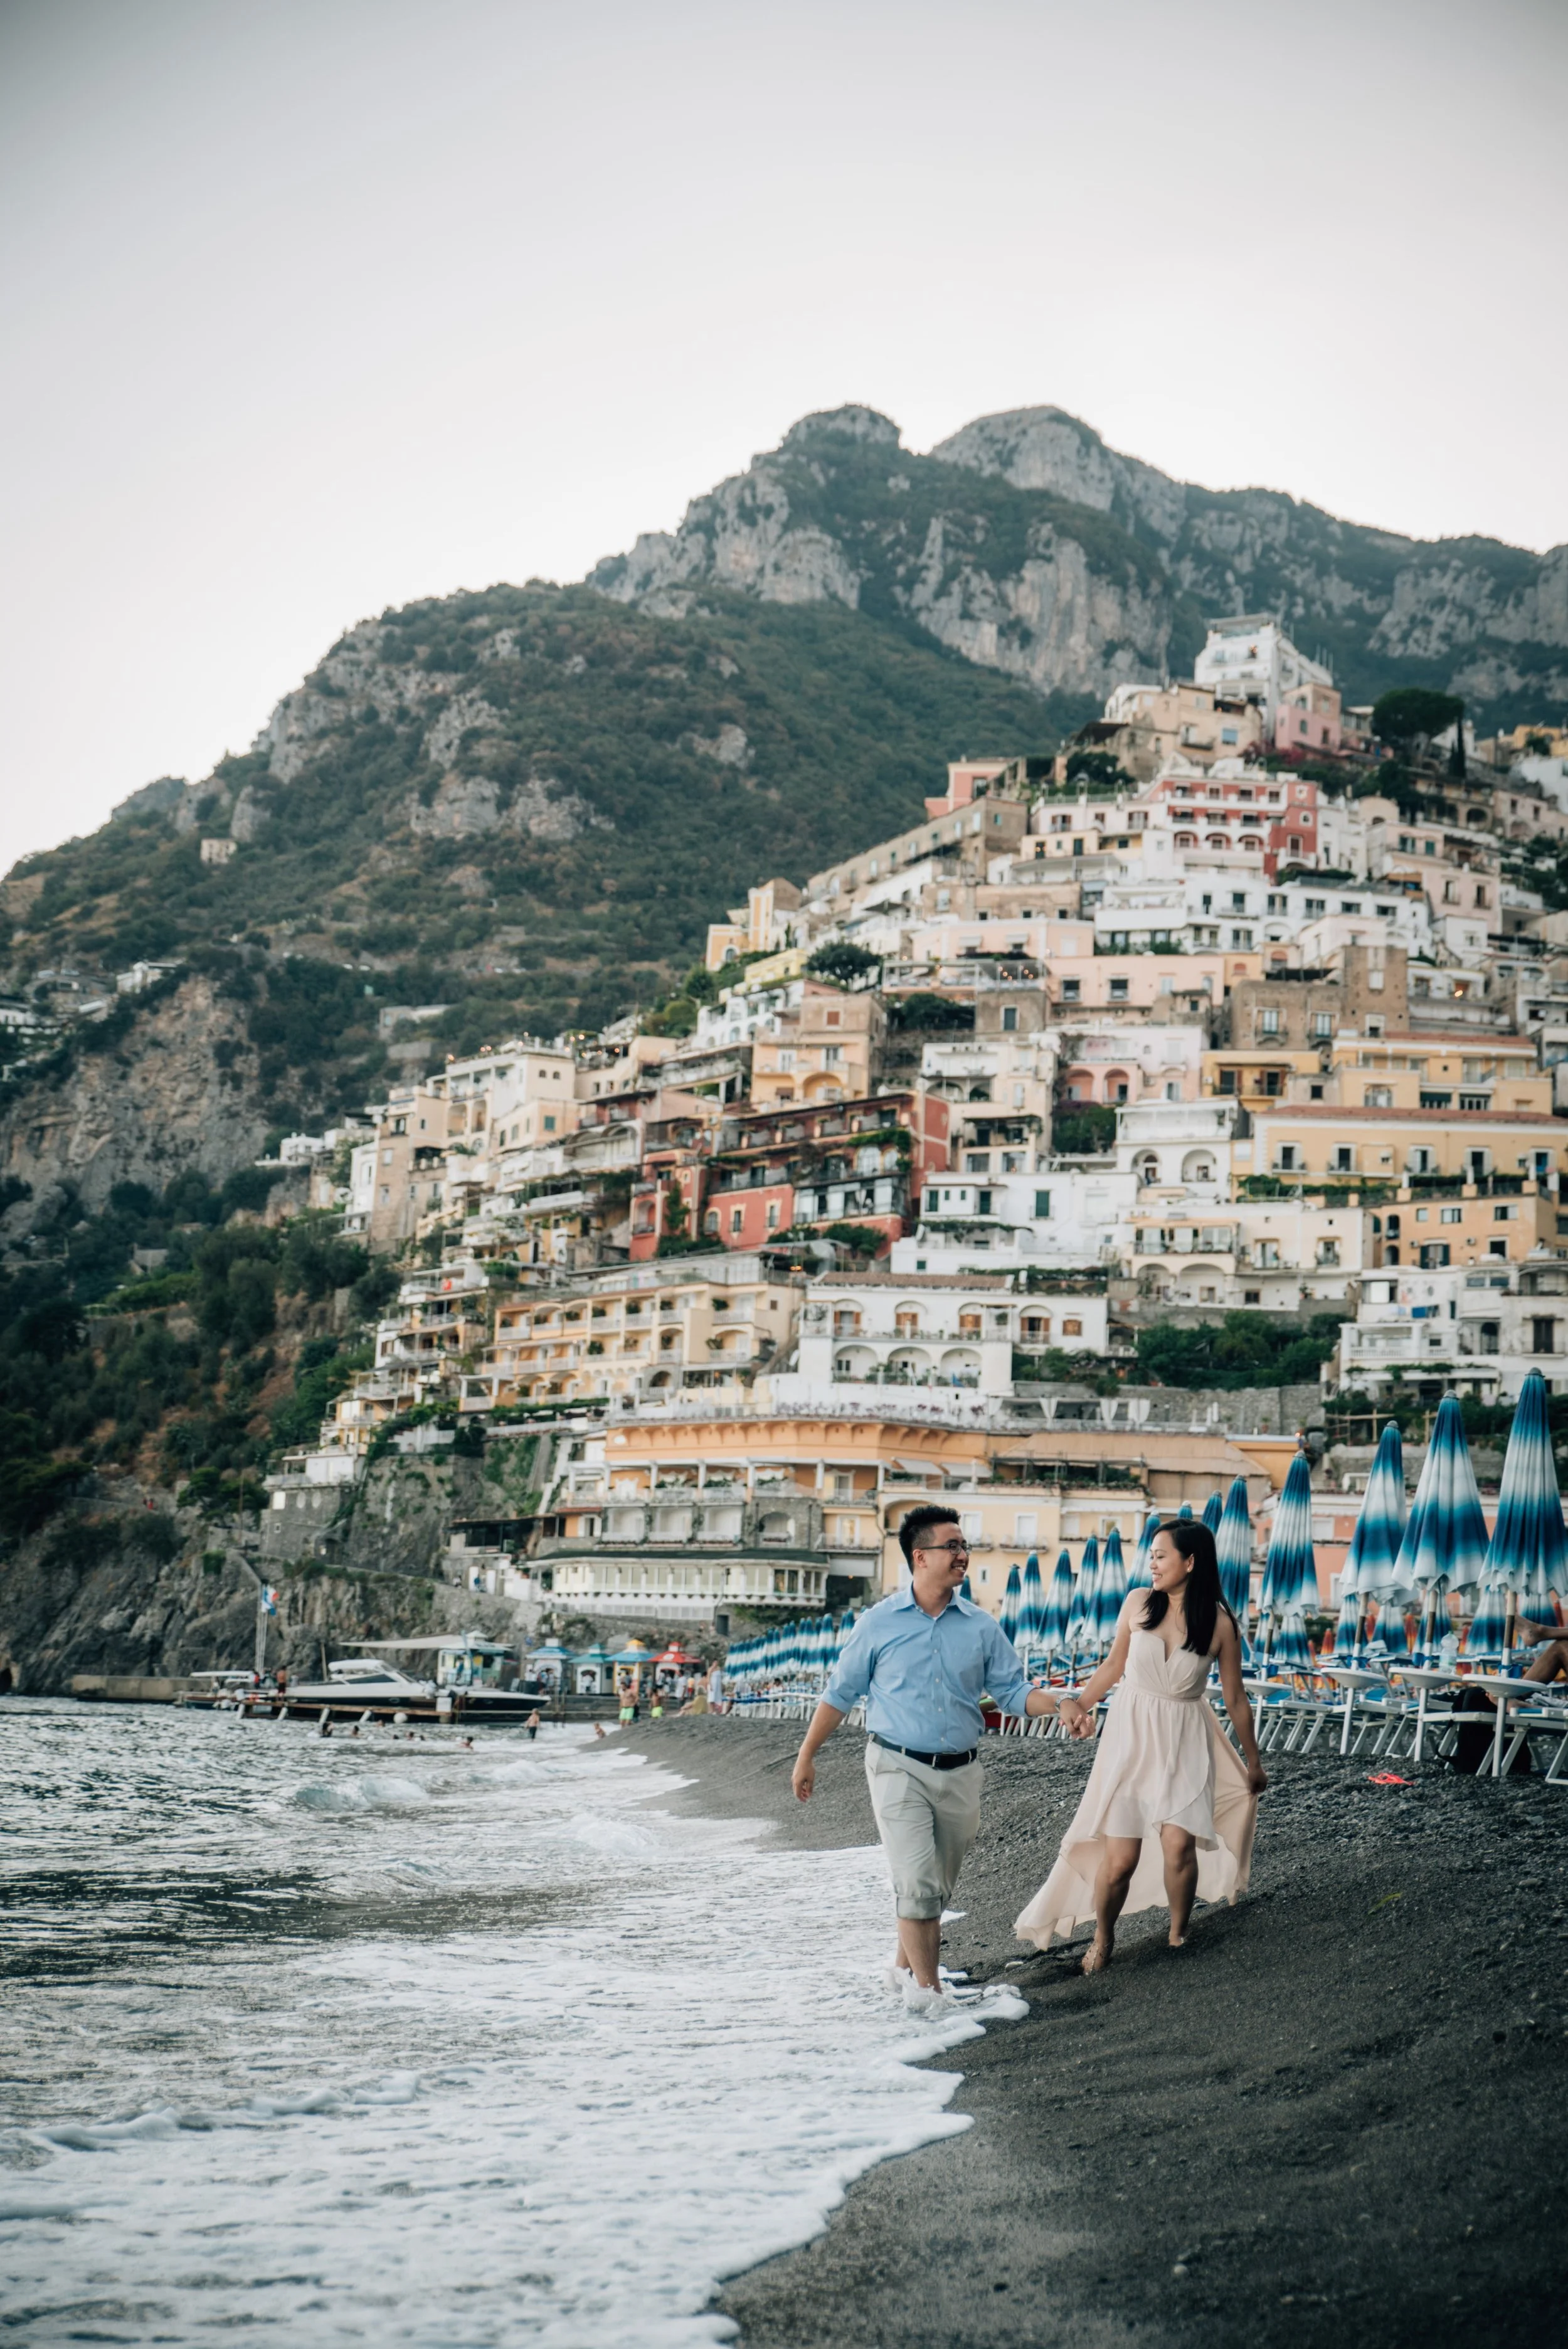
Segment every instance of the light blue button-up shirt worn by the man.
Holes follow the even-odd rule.
[[[953,1597],[927,1616],[913,1590],[869,1607],[822,1691],[836,1712],[866,1698],[866,1729],[922,1755],[960,1755],[981,1738],[981,1694],[1023,1712],[1028,1680],[995,1616]]]

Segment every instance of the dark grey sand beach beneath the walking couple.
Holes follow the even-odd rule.
[[[676,1806],[873,1839],[852,1734],[796,1804],[786,1724],[631,1734]],[[1089,1769],[988,1741],[986,1811],[944,1961],[1026,2022],[941,2058],[960,2138],[861,2178],[826,2234],[737,2276],[749,2349],[1101,2342],[1540,2344],[1568,2335],[1568,1788],[1376,1762],[1270,1764],[1251,1893],[1129,1917],[1089,1983],[1012,1919]],[[1023,1959],[1023,1964],[1016,1964]],[[869,1985],[869,1999],[887,1992]]]

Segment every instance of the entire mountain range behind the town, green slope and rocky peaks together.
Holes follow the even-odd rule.
[[[0,1189],[59,1221],[117,1182],[223,1184],[268,1130],[385,1083],[397,1005],[444,1005],[434,1059],[599,1027],[749,881],[901,827],[951,756],[1054,747],[1235,606],[1284,613],[1352,700],[1568,700],[1568,550],[1171,482],[1061,409],[930,456],[864,406],[807,416],[584,585],[364,620],[244,756],[0,883],[5,984],[42,1010],[183,963],[0,1083]],[[7,1233],[40,1210],[9,1212]]]

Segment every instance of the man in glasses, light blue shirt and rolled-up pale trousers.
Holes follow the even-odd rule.
[[[866,1778],[899,1914],[894,1959],[911,2006],[941,1999],[941,1912],[979,1835],[981,1694],[1002,1712],[1054,1712],[1030,1689],[1012,1640],[958,1586],[969,1546],[958,1513],[925,1503],[899,1527],[911,1586],[869,1607],[812,1715],[796,1757],[796,1795],[810,1802],[817,1752],[866,1698]]]

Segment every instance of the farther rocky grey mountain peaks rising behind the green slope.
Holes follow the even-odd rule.
[[[1350,702],[1462,693],[1472,716],[1568,702],[1568,547],[1415,540],[1282,491],[1174,482],[1061,409],[984,416],[930,456],[873,409],[807,416],[779,449],[638,538],[592,585],[676,613],[711,587],[836,601],[1073,705],[1183,674],[1207,618],[1279,613]]]

